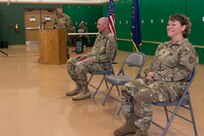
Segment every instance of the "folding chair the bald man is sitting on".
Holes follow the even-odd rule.
[[[96,89],[95,93],[94,93],[93,96],[92,96],[92,99],[94,99],[95,96],[96,96],[96,94],[98,93],[98,91],[99,91],[99,89],[100,89],[100,87],[101,87],[101,85],[102,85],[102,83],[103,83],[103,81],[104,81],[104,79],[105,79],[105,75],[111,75],[111,74],[114,75],[114,74],[115,74],[112,64],[113,64],[113,62],[114,62],[114,60],[115,60],[115,58],[116,58],[116,56],[117,56],[117,51],[118,51],[118,50],[117,50],[117,47],[116,47],[115,53],[114,53],[114,55],[113,55],[113,58],[112,58],[111,62],[109,63],[109,66],[108,66],[108,68],[107,68],[106,70],[93,71],[92,73],[90,73],[91,76],[90,76],[90,78],[89,78],[89,80],[88,80],[88,84],[89,84],[91,87],[93,87],[93,88]],[[99,85],[98,85],[97,87],[94,86],[94,85],[92,85],[92,84],[90,83],[90,82],[91,82],[91,79],[92,79],[92,77],[93,77],[94,75],[103,75],[103,78],[101,79],[101,82],[99,83]],[[106,87],[107,87],[107,89],[108,89],[108,84],[107,84],[107,82],[106,82]]]

